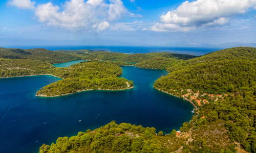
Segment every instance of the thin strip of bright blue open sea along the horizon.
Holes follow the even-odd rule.
[[[215,52],[224,48],[214,48],[214,47],[161,47],[161,46],[5,46],[7,48],[21,48],[21,49],[31,49],[31,48],[46,48],[49,50],[59,50],[59,49],[91,49],[91,50],[107,50],[110,52],[118,53],[152,53],[152,52],[170,52],[178,54],[189,54],[195,56],[205,55],[207,53]]]

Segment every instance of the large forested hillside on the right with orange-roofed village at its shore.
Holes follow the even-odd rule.
[[[220,50],[171,66],[170,73],[155,82],[156,89],[189,99],[199,108],[189,123],[194,142],[187,150],[220,151],[223,137],[205,135],[210,128],[220,133],[217,125],[222,125],[228,134],[225,143],[256,152],[255,55],[252,47]]]

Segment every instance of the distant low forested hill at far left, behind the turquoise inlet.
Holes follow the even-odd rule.
[[[65,63],[81,58],[74,54],[53,52],[43,48],[35,49],[17,49],[17,48],[0,48],[0,58],[4,59],[31,59],[48,63]]]

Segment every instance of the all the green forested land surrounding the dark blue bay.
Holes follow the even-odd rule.
[[[44,55],[40,56],[40,52]],[[118,125],[113,121],[71,138],[58,138],[55,144],[44,144],[40,153],[256,152],[256,48],[228,48],[201,57],[6,48],[0,48],[0,53],[1,78],[32,74],[53,74],[62,78],[42,88],[37,95],[128,89],[133,82],[119,78],[122,73],[119,66],[134,65],[168,71],[168,75],[154,83],[154,88],[189,100],[196,107],[193,119],[183,123],[179,132],[156,135],[154,127]],[[71,60],[90,62],[67,68],[51,65]]]

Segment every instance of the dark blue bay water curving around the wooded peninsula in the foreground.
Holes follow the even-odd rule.
[[[50,75],[0,79],[1,152],[38,152],[58,137],[77,135],[116,120],[170,133],[189,121],[193,106],[153,88],[163,70],[123,68],[135,87],[123,91],[85,91],[61,97],[36,97],[59,79]],[[79,122],[81,120],[81,122]]]

